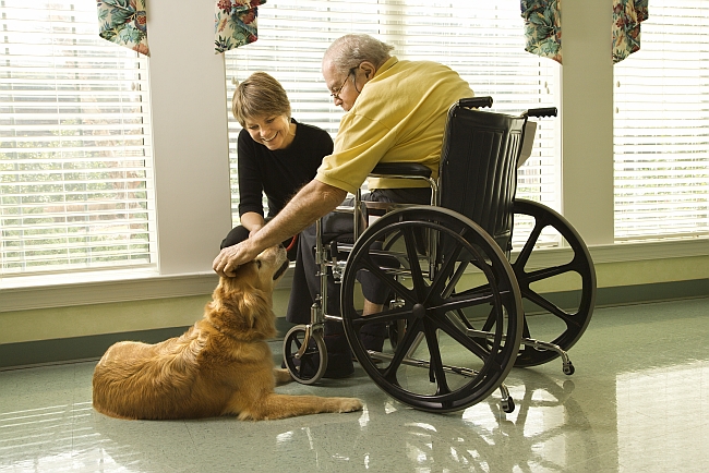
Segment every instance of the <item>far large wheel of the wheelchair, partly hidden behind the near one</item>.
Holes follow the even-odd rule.
[[[593,313],[596,270],[591,255],[574,227],[542,204],[516,199],[515,222],[518,226],[521,223],[521,229],[527,227],[524,243],[518,245],[515,242],[515,250],[519,246],[519,254],[512,265],[527,313],[524,337],[551,341],[566,351],[581,337]],[[515,227],[515,231],[518,230]],[[561,241],[564,247],[570,250],[568,256],[562,262],[549,264],[543,257],[534,262],[534,247],[543,246],[548,241],[555,244]],[[544,296],[540,292],[545,284],[548,288],[565,287],[576,295],[570,299]],[[557,356],[557,352],[522,343],[515,365],[537,366]]]

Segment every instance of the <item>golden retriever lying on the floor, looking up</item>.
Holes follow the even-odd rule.
[[[94,371],[94,409],[119,419],[285,419],[362,409],[354,398],[274,392],[291,380],[274,367],[266,343],[276,335],[273,290],[288,268],[274,246],[220,278],[204,317],[184,335],[160,343],[110,347]]]

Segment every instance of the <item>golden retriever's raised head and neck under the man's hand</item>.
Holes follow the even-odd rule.
[[[276,335],[273,291],[288,269],[286,248],[281,245],[264,250],[252,262],[223,277],[214,290],[211,317],[221,327],[229,327],[241,339],[263,339]]]

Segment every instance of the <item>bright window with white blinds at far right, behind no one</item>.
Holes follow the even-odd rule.
[[[615,240],[709,234],[709,1],[653,0],[614,78]]]

